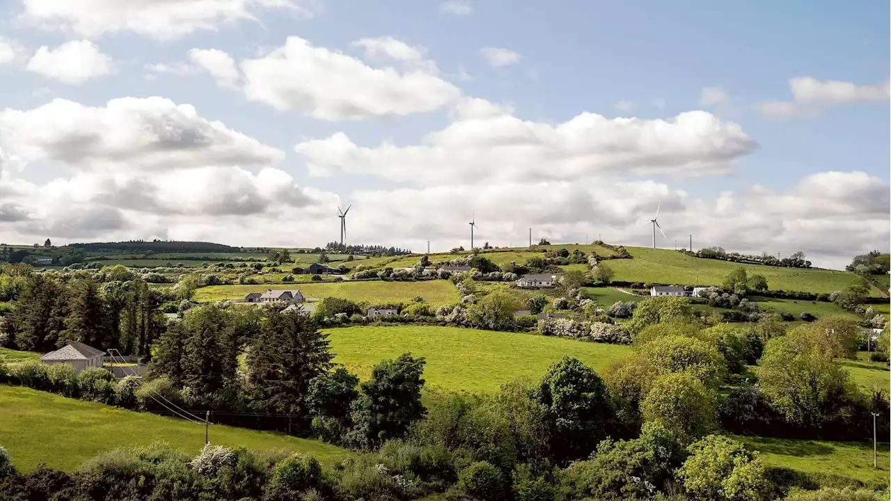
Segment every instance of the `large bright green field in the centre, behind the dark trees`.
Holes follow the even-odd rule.
[[[494,392],[518,378],[540,378],[564,355],[595,370],[631,352],[626,346],[522,333],[438,327],[364,326],[328,329],[335,362],[367,379],[381,360],[410,352],[425,357],[424,379],[433,389]]]

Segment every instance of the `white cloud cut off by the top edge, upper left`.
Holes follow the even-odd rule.
[[[259,12],[278,9],[311,16],[312,2],[294,0],[22,0],[24,18],[47,29],[83,37],[132,31],[172,39],[221,24],[254,21]]]

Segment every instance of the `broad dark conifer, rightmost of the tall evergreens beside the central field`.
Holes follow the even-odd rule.
[[[309,384],[334,358],[327,338],[303,312],[269,311],[247,355],[253,403],[268,414],[306,415]]]

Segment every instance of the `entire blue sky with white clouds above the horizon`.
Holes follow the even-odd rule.
[[[891,249],[891,4],[4,0],[0,240]]]

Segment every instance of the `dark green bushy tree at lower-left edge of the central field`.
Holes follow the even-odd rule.
[[[403,353],[384,360],[372,369],[372,379],[363,382],[350,416],[355,427],[347,439],[356,446],[376,448],[388,439],[405,435],[411,424],[427,414],[421,404],[424,358]]]

